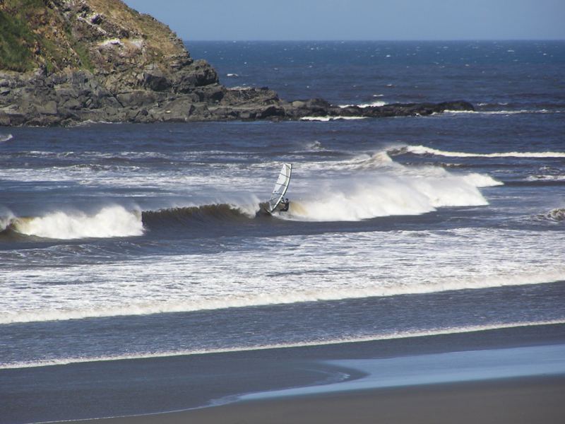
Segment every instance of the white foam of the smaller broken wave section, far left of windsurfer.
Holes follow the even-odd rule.
[[[63,240],[143,234],[141,212],[117,205],[90,215],[81,211],[55,211],[40,217],[15,218],[13,228],[25,235]]]

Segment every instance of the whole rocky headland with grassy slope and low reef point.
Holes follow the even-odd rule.
[[[167,25],[120,0],[0,2],[0,125],[393,117],[464,101],[338,107],[226,88]]]

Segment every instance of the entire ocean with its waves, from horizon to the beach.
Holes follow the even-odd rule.
[[[186,44],[285,100],[476,110],[0,128],[0,377],[565,324],[565,42]]]

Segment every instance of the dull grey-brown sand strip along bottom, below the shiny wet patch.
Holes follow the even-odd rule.
[[[565,420],[564,402],[565,377],[545,377],[251,401],[81,423],[561,424]]]

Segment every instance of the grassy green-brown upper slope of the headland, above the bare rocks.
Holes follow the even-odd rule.
[[[0,1],[0,70],[133,74],[179,59],[190,61],[167,25],[120,0]]]

